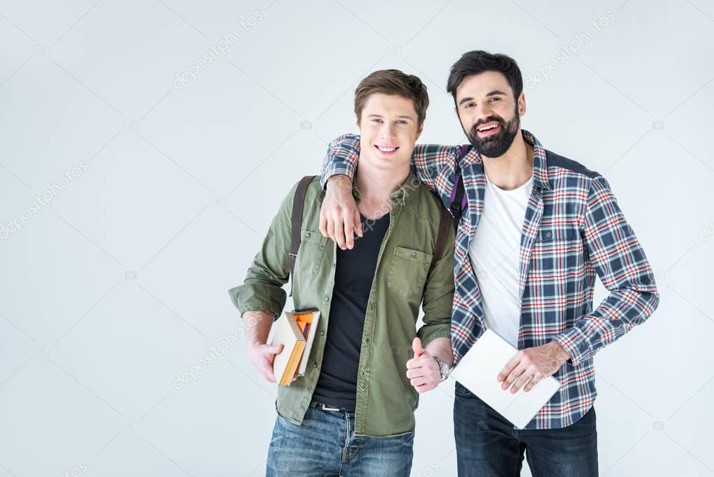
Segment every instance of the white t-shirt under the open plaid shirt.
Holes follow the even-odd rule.
[[[481,288],[486,328],[516,348],[521,327],[521,231],[532,191],[533,176],[513,191],[499,189],[486,176],[483,211],[468,250]]]

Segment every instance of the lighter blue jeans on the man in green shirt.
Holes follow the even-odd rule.
[[[405,476],[414,433],[354,435],[354,413],[308,408],[302,425],[278,416],[266,476]]]

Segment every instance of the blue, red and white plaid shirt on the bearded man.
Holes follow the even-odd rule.
[[[593,356],[643,323],[659,294],[645,252],[625,221],[608,181],[581,164],[533,146],[533,192],[523,222],[520,253],[521,328],[518,348],[560,343],[570,359],[553,375],[562,386],[527,429],[563,428],[593,405]],[[352,177],[359,136],[333,141],[322,168],[322,184],[335,174]],[[416,146],[412,169],[448,207],[460,146]],[[460,161],[468,211],[458,224],[454,255],[451,346],[458,363],[484,331],[483,305],[468,250],[483,211],[486,176],[472,148]],[[595,273],[610,294],[593,311]],[[494,377],[495,379],[495,377]]]

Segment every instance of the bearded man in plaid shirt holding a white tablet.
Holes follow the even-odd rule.
[[[534,476],[597,476],[593,356],[653,313],[652,270],[605,178],[521,129],[526,99],[516,61],[468,52],[452,66],[447,90],[472,148],[461,157],[458,146],[416,146],[412,167],[447,208],[457,167],[463,176],[454,362],[491,328],[519,350],[493,376],[503,392],[524,384],[530,391],[547,376],[562,383],[523,430],[456,383],[458,473],[518,475],[525,453]],[[331,179],[321,231],[345,248],[354,230],[345,176],[358,163],[358,141],[338,138],[323,166],[323,183]],[[610,294],[593,310],[595,273]]]

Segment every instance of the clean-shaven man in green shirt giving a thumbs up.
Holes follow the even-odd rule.
[[[408,476],[418,394],[446,379],[453,358],[453,221],[409,168],[426,86],[401,71],[376,71],[358,85],[354,106],[361,165],[349,194],[363,236],[350,250],[321,236],[324,194],[313,179],[302,199],[292,286],[296,308],[318,307],[321,318],[303,356],[305,375],[278,386],[268,476]],[[266,341],[286,302],[296,189],[245,283],[230,291],[248,356],[271,382],[282,349]],[[416,331],[420,305],[424,324]]]

